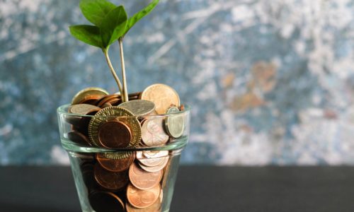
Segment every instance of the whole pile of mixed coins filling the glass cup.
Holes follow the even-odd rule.
[[[183,136],[181,110],[178,94],[164,84],[132,93],[127,102],[102,88],[86,88],[74,96],[67,139],[79,146],[105,148],[78,156],[93,210],[161,211],[169,151],[137,148],[164,146]]]

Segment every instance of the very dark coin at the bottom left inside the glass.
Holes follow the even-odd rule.
[[[111,192],[91,192],[90,205],[96,212],[124,212],[123,201]]]

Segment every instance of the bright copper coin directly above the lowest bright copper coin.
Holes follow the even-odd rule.
[[[162,178],[162,170],[158,172],[146,172],[139,167],[135,163],[130,165],[129,169],[129,179],[130,182],[138,189],[146,190],[152,189],[159,184]]]

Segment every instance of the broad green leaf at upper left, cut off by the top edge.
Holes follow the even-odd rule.
[[[98,27],[101,25],[103,18],[114,8],[114,4],[106,0],[81,0],[80,8],[85,18]]]

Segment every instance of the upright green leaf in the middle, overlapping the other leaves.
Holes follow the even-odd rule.
[[[124,35],[127,26],[127,12],[124,6],[118,6],[110,11],[101,23],[101,37],[103,47],[108,47],[119,37]]]

